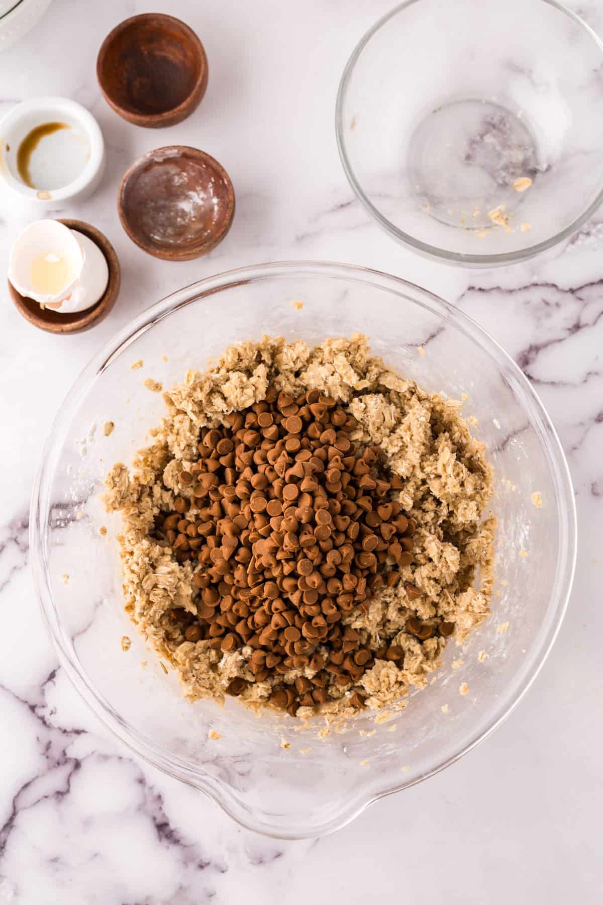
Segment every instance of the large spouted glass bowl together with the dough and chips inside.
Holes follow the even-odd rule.
[[[360,337],[369,338],[370,350]],[[282,347],[277,338],[282,338]],[[329,338],[331,345],[326,343]],[[338,343],[342,348],[337,348]],[[248,363],[244,365],[241,357],[234,367],[231,353],[224,357],[231,348],[249,356]],[[278,348],[303,348],[307,364],[301,357],[299,367],[278,359]],[[261,360],[251,367],[256,357]],[[379,366],[369,364],[379,359]],[[260,366],[265,368],[264,399],[258,401],[253,374]],[[334,386],[330,381],[329,386],[319,382],[328,379],[330,368],[338,375],[339,383]],[[297,375],[297,383],[291,386],[284,382],[287,369]],[[202,409],[208,402],[203,395],[205,377],[216,376],[212,402],[220,397],[225,400],[221,387],[229,380],[231,386],[237,384],[240,378],[229,376],[235,370],[240,370],[240,385],[251,388],[251,395],[238,398],[236,404],[232,400],[203,424]],[[189,372],[191,376],[187,376]],[[392,384],[390,374],[400,383]],[[352,382],[346,384],[348,377]],[[368,385],[360,386],[363,380]],[[358,386],[352,386],[354,382]],[[277,391],[274,398],[271,386]],[[199,390],[196,402],[189,398],[194,387]],[[317,402],[302,399],[313,390],[318,391]],[[325,397],[322,403],[321,396]],[[375,396],[382,400],[372,407]],[[314,400],[315,395],[309,399]],[[304,409],[312,405],[315,411],[309,409],[312,417],[306,421]],[[297,406],[297,412],[289,406]],[[428,422],[420,421],[419,408],[429,417]],[[407,409],[419,415],[416,420],[424,433],[410,427],[412,419],[399,421],[399,413]],[[377,412],[381,413],[381,433],[372,417]],[[383,416],[386,412],[388,418]],[[242,427],[238,417],[228,424],[229,414],[242,413]],[[250,418],[246,426],[251,414],[258,424],[252,424]],[[296,418],[302,421],[301,429]],[[328,419],[330,426],[323,424],[322,418]],[[310,426],[317,421],[325,430],[316,436],[317,427],[310,431]],[[182,445],[175,440],[179,431],[174,431],[172,423],[184,429]],[[191,425],[193,431],[188,430]],[[278,428],[278,436],[269,431],[270,426]],[[444,426],[446,429],[441,429]],[[243,434],[233,439],[241,430]],[[266,430],[268,437],[261,433]],[[260,435],[259,443],[254,434]],[[255,452],[265,440],[274,443],[263,447],[267,462],[261,457],[255,462]],[[345,440],[350,448],[345,447]],[[410,440],[415,443],[414,458],[408,454]],[[228,464],[229,441],[235,460],[239,456],[241,462]],[[398,441],[407,446],[399,448]],[[277,471],[283,442],[290,461],[283,459],[278,464],[279,470],[285,465],[285,473],[280,479],[277,472],[272,480],[272,472],[266,472],[268,466]],[[337,442],[343,442],[345,449]],[[137,452],[152,450],[157,444],[163,449],[164,443],[172,443],[171,449],[168,445],[167,452],[161,453],[164,461],[159,455],[156,462],[145,463],[146,454]],[[237,451],[242,443],[245,446]],[[219,468],[210,464],[216,461],[214,450],[225,460]],[[306,474],[305,457],[296,458],[304,451],[312,453],[306,461],[326,455],[326,463],[334,464]],[[405,455],[400,456],[400,451]],[[243,455],[250,458],[249,465]],[[269,457],[276,457],[277,462],[269,462]],[[368,472],[354,473],[358,459],[364,464],[359,464],[357,471],[368,468]],[[415,471],[410,475],[400,472],[401,461],[410,459]],[[176,464],[170,466],[170,460]],[[107,512],[103,497],[118,487],[114,470],[118,462],[123,464],[122,502],[131,509]],[[298,473],[300,462],[303,477]],[[264,464],[267,469],[260,472],[259,466]],[[242,471],[240,465],[244,465]],[[177,473],[170,476],[170,467]],[[243,477],[248,467],[250,472]],[[448,481],[447,467],[453,475],[465,475],[457,490]],[[297,474],[287,474],[291,469]],[[116,479],[111,489],[105,483],[109,472]],[[181,479],[184,472],[193,481],[187,484],[188,477]],[[334,472],[339,472],[339,477]],[[213,473],[218,475],[217,484],[210,480]],[[262,473],[267,477],[266,486],[259,478]],[[428,474],[429,492],[423,492],[420,488]],[[200,481],[200,475],[210,477]],[[275,486],[278,480],[285,484]],[[161,487],[152,490],[159,481],[165,491]],[[303,481],[309,489],[302,491]],[[408,499],[400,498],[404,488],[394,486],[399,481],[410,487]],[[363,500],[361,514],[347,503],[349,514],[334,511],[335,503],[343,507],[346,502],[337,500],[338,482],[342,487],[346,482],[354,491],[355,496],[347,499],[355,506],[356,500],[370,498],[371,509]],[[307,521],[306,512],[300,512],[300,519],[295,512],[270,514],[278,512],[278,502],[282,508],[287,501],[284,488],[288,484],[297,488],[287,490],[287,495],[297,494],[295,500],[291,497],[291,504],[304,493],[310,495],[311,500],[302,500],[314,513]],[[191,486],[193,497],[195,490],[200,494],[194,499],[203,505],[191,501],[187,512],[180,513],[176,498],[191,499],[187,490]],[[232,486],[242,493],[237,496],[242,505],[235,504],[240,505],[238,513],[233,509],[231,515],[222,510],[220,514],[202,511],[212,510],[219,501],[212,500],[210,491],[220,493],[222,488],[228,500],[232,491],[225,488]],[[281,486],[283,500],[279,498]],[[140,496],[127,503],[133,488]],[[203,496],[206,488],[207,497]],[[381,498],[380,492],[384,494]],[[162,499],[155,500],[155,493]],[[141,516],[137,507],[145,494],[150,494],[153,502],[150,511],[144,510],[146,514]],[[434,500],[431,508],[429,500]],[[446,518],[440,508],[442,501],[448,505]],[[113,502],[121,505],[118,499]],[[248,512],[251,502],[258,511]],[[400,506],[399,512],[394,511],[394,503]],[[178,508],[181,506],[178,502]],[[191,511],[194,519],[172,518],[165,524],[174,514]],[[371,516],[367,522],[367,517],[375,511],[381,521],[371,525],[377,519]],[[452,516],[452,512],[456,514]],[[197,514],[203,520],[197,519]],[[121,550],[118,536],[127,534],[124,515],[134,523],[127,544],[132,550],[137,544],[149,545],[148,561],[142,557],[137,576],[127,571],[122,575],[126,564],[120,552],[126,550]],[[256,524],[257,515],[295,518],[298,524],[287,521],[290,530],[285,531],[280,530],[282,523],[269,524],[270,534],[274,531],[276,535],[269,538],[269,546],[277,546],[267,549],[259,538],[243,537],[245,531],[254,534],[266,528],[263,519]],[[229,530],[218,532],[222,519],[231,519],[235,525],[229,530],[234,531],[236,547],[232,540],[220,545],[210,542],[210,538],[222,541],[231,537]],[[407,519],[408,525],[402,519]],[[496,520],[494,537],[489,519]],[[355,529],[348,534],[352,523],[359,525],[356,537],[352,536]],[[261,265],[212,277],[158,302],[112,339],[90,362],[61,406],[42,456],[31,524],[36,586],[61,660],[57,681],[66,673],[99,719],[138,756],[210,795],[241,824],[287,838],[323,834],[343,825],[375,798],[430,776],[485,738],[520,700],[550,649],[566,605],[575,555],[572,492],[561,449],[540,401],[513,362],[473,321],[428,292],[385,274],[335,264]],[[383,538],[382,525],[390,538]],[[221,527],[228,528],[226,524]],[[310,531],[315,538],[311,542]],[[376,542],[374,536],[378,536]],[[333,548],[328,546],[331,538]],[[361,550],[359,540],[365,539],[367,547]],[[385,540],[388,544],[383,550]],[[251,546],[243,541],[250,541]],[[310,555],[300,557],[296,542]],[[180,552],[174,556],[176,544],[175,552]],[[257,544],[259,548],[254,550]],[[230,558],[224,556],[229,545],[233,550]],[[194,553],[195,546],[197,559],[193,560],[185,554]],[[213,552],[216,549],[218,552]],[[221,595],[221,600],[231,597],[225,611],[212,605],[211,593],[203,601],[203,590],[216,583],[220,593],[217,579],[224,568],[222,561],[237,564],[224,572],[229,580],[240,565],[246,566],[240,562],[248,556],[244,550],[250,550],[256,559],[251,573],[261,571],[259,582],[251,575],[251,589],[261,586],[261,595],[250,595],[249,603],[245,595],[242,600],[241,595],[238,599]],[[350,564],[350,550],[353,565],[346,573],[341,566]],[[200,562],[199,551],[202,559],[209,557],[209,561]],[[316,560],[318,551],[322,558]],[[410,563],[404,553],[411,554]],[[155,620],[145,609],[144,587],[138,593],[137,582],[147,586],[149,572],[157,572],[157,556],[165,556],[166,571],[165,586],[149,588],[149,597],[156,599]],[[312,566],[307,576],[303,572],[308,565],[301,565],[302,560]],[[289,569],[293,561],[297,565],[287,575],[284,565],[280,571],[281,563],[287,563]],[[490,575],[492,562],[494,573]],[[331,568],[334,575],[329,575]],[[170,584],[174,569],[190,573],[191,584],[195,573],[203,573],[203,578],[197,579],[201,585],[207,581],[205,588],[200,586],[203,606],[192,588],[190,596],[187,592],[181,598],[182,605],[174,605]],[[388,586],[388,573],[396,572],[400,575],[393,575]],[[314,573],[317,575],[312,577]],[[242,576],[242,570],[237,575]],[[346,585],[353,587],[344,587],[345,575]],[[379,576],[384,586],[376,581],[375,587],[374,579]],[[296,581],[303,577],[306,583],[309,578],[309,589],[297,586],[300,597],[287,581],[292,577]],[[321,601],[325,624],[321,614],[308,609],[316,606],[309,592],[319,593],[324,579],[325,598],[331,601]],[[241,584],[241,589],[247,590]],[[407,586],[419,591],[413,600]],[[356,600],[366,588],[371,595]],[[279,593],[273,596],[275,590]],[[352,601],[348,595],[353,595]],[[388,607],[383,619],[386,595],[396,599],[392,613]],[[382,602],[376,605],[377,618],[371,622],[377,596]],[[275,605],[269,601],[278,599],[286,606],[283,610],[277,603],[275,613]],[[351,604],[352,610],[346,613]],[[364,605],[368,605],[368,614]],[[145,614],[143,626],[140,619]],[[266,614],[268,631],[261,625]],[[138,624],[133,624],[131,615]],[[168,618],[171,634],[164,628],[155,634],[154,622],[162,627],[162,619]],[[365,624],[354,627],[351,623],[356,618]],[[226,629],[224,622],[229,628],[221,633],[218,626]],[[451,624],[454,628],[447,635]],[[340,626],[339,636],[332,626]],[[142,628],[145,633],[139,630]],[[289,629],[297,629],[300,637]],[[311,640],[313,631],[317,631],[315,640]],[[184,637],[183,641],[186,632],[193,639],[199,635],[198,640]],[[318,656],[325,660],[315,671],[316,675],[326,674],[325,678],[319,675],[318,686],[312,682],[316,675],[306,672],[310,664],[303,659],[297,660],[297,666],[293,662],[293,672],[300,670],[303,675],[295,679],[287,675],[289,657],[310,656],[312,660],[316,653],[303,650],[303,643],[300,649],[303,639],[308,647],[316,645]],[[245,641],[250,644],[242,643]],[[257,644],[259,648],[252,646]],[[269,650],[270,644],[281,645],[284,653]],[[325,649],[330,645],[328,662],[321,645]],[[254,652],[249,657],[247,646]],[[208,673],[199,672],[195,654],[205,647],[212,652],[207,654],[209,661],[217,657],[217,663],[211,662],[212,670],[222,661],[233,665],[233,675],[229,681],[222,676],[226,683],[219,686],[223,701],[217,700],[213,689],[199,696],[203,675]],[[388,659],[391,648],[392,659]],[[241,660],[250,665],[242,667]],[[277,666],[285,672],[279,672]],[[184,674],[189,668],[191,684]],[[390,700],[386,700],[381,682],[371,683],[375,670],[393,678]],[[275,671],[281,678],[276,678]],[[306,681],[299,682],[297,689],[296,679],[306,679],[312,689]],[[228,691],[234,680],[240,681]],[[254,703],[249,700],[252,689],[260,686],[266,694],[258,695]],[[316,702],[316,688],[328,692],[327,700]],[[184,698],[183,691],[195,700]],[[287,691],[299,700],[290,700]],[[270,700],[273,695],[275,700]],[[400,703],[403,706],[398,709]],[[290,715],[291,710],[295,716]]]

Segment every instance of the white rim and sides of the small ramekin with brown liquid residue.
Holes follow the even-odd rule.
[[[0,20],[1,21],[1,20]],[[17,151],[32,129],[48,122],[66,122],[83,130],[90,143],[90,157],[80,176],[61,188],[41,191],[25,185],[19,176]],[[80,200],[99,185],[105,168],[105,142],[99,123],[91,113],[69,98],[33,98],[16,104],[0,121],[0,185],[18,195],[24,203],[40,207],[60,207],[62,202]]]

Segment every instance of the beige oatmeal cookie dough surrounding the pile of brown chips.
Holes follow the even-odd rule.
[[[446,643],[437,636],[421,643],[406,631],[407,620],[438,617],[454,623],[462,641],[490,612],[495,519],[482,517],[492,494],[492,472],[458,403],[429,395],[396,375],[381,358],[370,356],[361,335],[326,339],[315,348],[283,338],[242,342],[227,348],[214,367],[189,371],[183,384],[164,394],[168,414],[151,431],[154,442],[137,453],[131,469],[118,462],[107,478],[107,508],[119,510],[123,519],[118,543],[127,612],[174,667],[185,697],[223,700],[228,685],[240,677],[250,681],[240,700],[254,706],[268,701],[275,679],[252,681],[250,647],[221,653],[208,641],[184,639],[172,611],[196,614],[196,564],[176,562],[170,546],[153,535],[155,517],[174,510],[176,495],[184,493],[178,475],[197,458],[200,428],[221,426],[227,414],[262,401],[269,385],[293,396],[313,388],[332,396],[358,422],[354,442],[378,445],[391,473],[404,481],[397,492],[402,509],[418,526],[414,560],[403,567],[403,580],[382,589],[368,612],[358,609],[345,619],[372,649],[385,641],[403,648],[403,666],[377,659],[357,685],[372,710],[403,707],[413,687],[428,683]],[[412,600],[407,583],[420,592]],[[287,684],[313,674],[306,666],[278,680]],[[331,691],[336,700],[327,701],[322,713],[345,717],[356,712],[352,690]],[[312,712],[302,707],[297,716]]]

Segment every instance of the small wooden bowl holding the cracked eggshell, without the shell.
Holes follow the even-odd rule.
[[[105,255],[108,263],[108,284],[104,295],[97,301],[96,305],[92,305],[91,308],[85,311],[60,314],[51,308],[42,310],[37,301],[28,299],[26,296],[21,295],[20,292],[17,292],[10,281],[8,282],[8,291],[16,310],[23,314],[24,319],[29,320],[34,327],[46,330],[48,333],[82,333],[84,330],[89,330],[90,327],[96,327],[102,319],[106,318],[118,298],[119,283],[121,281],[118,256],[107,236],[99,233],[99,230],[95,229],[94,226],[90,226],[90,224],[86,224],[82,220],[59,220],[59,223],[87,235],[93,243],[99,246],[100,251]]]

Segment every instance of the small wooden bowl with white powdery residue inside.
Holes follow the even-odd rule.
[[[234,189],[217,160],[173,145],[140,157],[119,186],[121,224],[143,252],[191,261],[211,252],[231,228]]]

